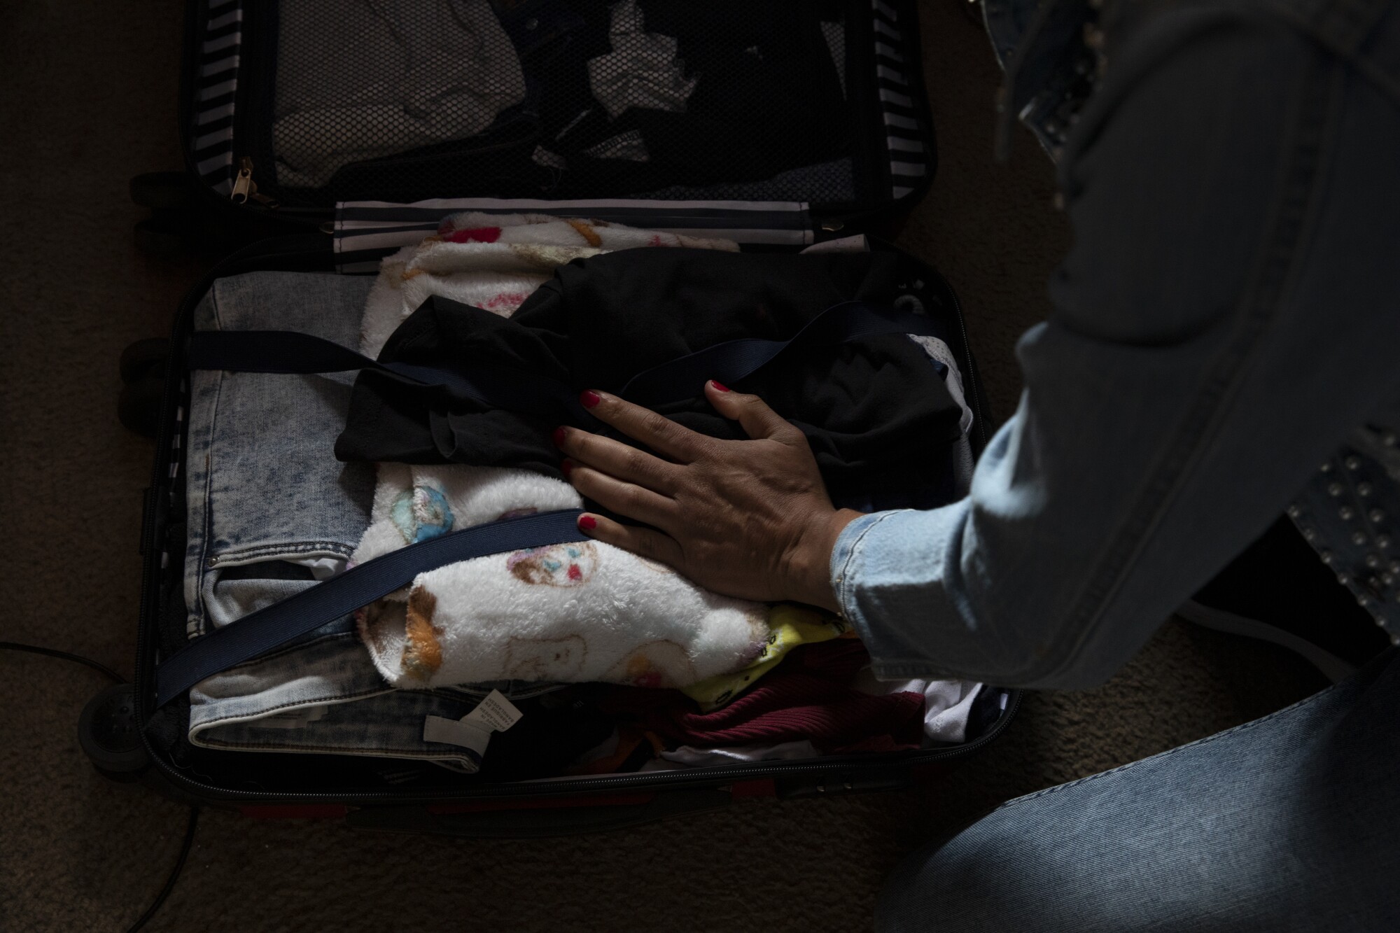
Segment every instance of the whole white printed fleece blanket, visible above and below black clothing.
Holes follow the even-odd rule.
[[[633,247],[736,249],[596,221],[456,214],[435,237],[384,261],[361,350],[377,356],[428,296],[508,317],[556,265]],[[452,530],[581,506],[571,486],[529,471],[381,464],[372,524],[351,563]],[[686,686],[743,668],[769,636],[766,607],[715,595],[601,542],[440,567],[358,621],[375,667],[402,688],[497,679]]]

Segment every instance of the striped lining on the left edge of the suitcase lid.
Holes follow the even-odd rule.
[[[234,189],[234,92],[244,10],[239,0],[209,0],[199,48],[192,144],[200,179],[228,195]]]

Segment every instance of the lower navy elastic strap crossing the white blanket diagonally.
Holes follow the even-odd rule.
[[[206,677],[227,671],[370,605],[427,570],[507,551],[585,541],[578,530],[581,514],[580,509],[568,509],[505,518],[430,538],[367,560],[190,642],[155,668],[155,705],[164,706]]]

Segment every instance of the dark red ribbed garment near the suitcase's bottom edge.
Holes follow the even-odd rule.
[[[640,723],[678,745],[741,745],[809,740],[820,751],[846,747],[917,748],[924,695],[871,696],[851,686],[869,654],[855,640],[804,644],[745,695],[713,713],[679,691],[615,686],[599,709]]]

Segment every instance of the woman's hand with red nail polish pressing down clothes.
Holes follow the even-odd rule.
[[[806,437],[757,395],[714,381],[704,392],[753,440],[697,434],[616,395],[582,394],[598,420],[661,457],[560,427],[554,443],[568,455],[564,474],[584,496],[659,531],[591,513],[578,527],[717,593],[836,611],[827,565],[837,535],[860,513],[832,506]]]

